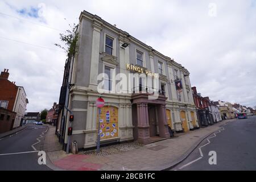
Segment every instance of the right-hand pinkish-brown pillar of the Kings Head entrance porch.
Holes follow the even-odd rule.
[[[159,137],[170,138],[170,133],[168,131],[168,123],[166,118],[166,106],[158,106],[158,126],[159,126]]]

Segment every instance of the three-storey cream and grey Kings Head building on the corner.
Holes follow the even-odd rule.
[[[168,126],[177,132],[199,127],[189,72],[181,64],[86,11],[80,15],[78,32],[77,53],[65,65],[60,93],[56,131],[64,146],[72,126],[71,142],[76,140],[79,148],[96,147],[100,96],[105,100],[101,144],[127,140],[147,144],[170,138]],[[101,73],[105,75],[99,79]],[[129,77],[133,74],[139,77]],[[127,80],[127,85],[120,85],[120,80]],[[176,88],[178,82],[182,89]],[[154,95],[158,97],[149,99]],[[70,112],[64,100],[73,122],[67,119]]]

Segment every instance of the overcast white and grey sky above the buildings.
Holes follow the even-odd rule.
[[[256,105],[256,1],[0,0],[0,69],[24,86],[27,111],[59,101],[66,57],[54,43],[82,10],[182,64],[202,96]]]

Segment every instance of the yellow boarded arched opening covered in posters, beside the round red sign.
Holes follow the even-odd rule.
[[[98,114],[97,114],[97,122],[98,122]],[[101,139],[118,137],[118,108],[117,107],[104,106],[101,108],[100,136],[101,136]]]

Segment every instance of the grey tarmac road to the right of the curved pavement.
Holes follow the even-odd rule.
[[[236,119],[204,139],[187,159],[172,170],[255,171],[255,138],[256,116]],[[212,158],[213,152],[216,159]]]

